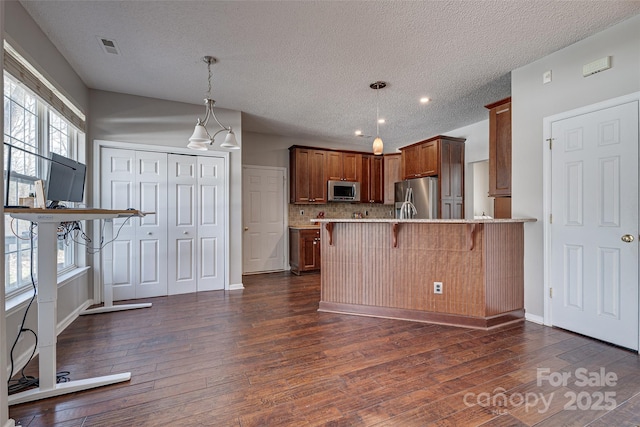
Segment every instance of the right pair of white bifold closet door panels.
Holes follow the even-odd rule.
[[[169,154],[169,294],[224,289],[224,159]]]

